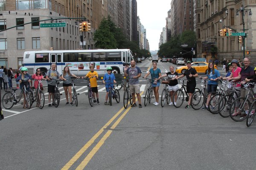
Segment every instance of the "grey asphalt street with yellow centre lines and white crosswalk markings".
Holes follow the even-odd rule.
[[[158,62],[162,74],[170,62]],[[151,66],[137,64],[142,77]],[[175,68],[177,65],[174,65]],[[221,75],[225,75],[219,66]],[[205,74],[199,74],[204,77]],[[234,122],[219,114],[165,105],[144,106],[146,81],[140,77],[143,108],[123,108],[120,103],[104,105],[105,86],[98,82],[100,105],[90,106],[84,80],[76,82],[78,107],[65,105],[62,93],[58,108],[23,109],[18,103],[3,109],[0,121],[1,170],[249,170],[256,146],[256,122]],[[150,77],[150,76],[149,76]],[[197,87],[200,80],[197,78]],[[160,85],[161,95],[163,85]],[[18,91],[17,91],[18,93]],[[1,91],[3,96],[4,91]],[[160,102],[160,100],[159,100]],[[138,104],[138,102],[137,102]],[[251,161],[252,160],[252,161]]]

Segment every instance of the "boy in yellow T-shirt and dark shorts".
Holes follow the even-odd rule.
[[[98,77],[97,71],[94,71],[94,65],[90,65],[90,71],[86,74],[85,77],[90,79],[90,85],[93,92],[93,102],[94,103],[97,102],[97,105],[99,105],[99,93],[98,93],[98,85],[97,85],[97,79],[99,79],[99,77]],[[95,99],[95,94],[97,97],[97,101]]]

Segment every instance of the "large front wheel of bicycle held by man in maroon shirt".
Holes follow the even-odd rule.
[[[233,101],[233,103],[230,106],[230,117],[233,121],[241,122],[244,119],[247,118],[248,110],[250,108],[250,101],[249,99],[245,100],[245,97],[239,97]],[[242,102],[241,102],[242,101]],[[238,105],[239,103],[239,105]],[[247,107],[247,110],[245,110],[245,107]]]

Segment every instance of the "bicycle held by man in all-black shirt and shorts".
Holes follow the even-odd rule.
[[[186,92],[186,85],[184,85],[184,82],[188,82],[190,81],[189,79],[178,79],[180,80],[180,85],[181,85],[181,88],[177,91],[175,91],[174,95],[173,95],[173,101],[175,101],[175,96],[177,96],[177,100],[176,100],[176,103],[173,102],[173,105],[175,106],[175,108],[180,108],[180,106],[183,104],[184,102],[184,93],[183,91],[185,92],[186,94],[186,102],[189,101],[189,94]],[[199,88],[195,88],[195,91],[200,91]]]

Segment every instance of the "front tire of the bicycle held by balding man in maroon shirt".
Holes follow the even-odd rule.
[[[230,117],[235,122],[241,122],[241,121],[245,120],[247,118],[247,116],[248,116],[248,114],[245,113],[245,109],[244,108],[240,108],[240,107],[242,107],[242,105],[244,105],[244,102],[245,102],[245,104],[248,105],[248,109],[250,108],[251,103],[250,103],[249,99],[247,99],[247,100],[245,100],[245,99],[246,99],[245,97],[239,97],[239,98],[235,99],[233,101],[233,103],[231,104],[231,106],[230,106],[230,112],[229,112],[230,113]],[[243,102],[240,102],[241,100]],[[236,102],[238,102],[238,101],[240,103],[239,106],[238,106],[238,109],[240,110],[239,112],[241,112],[241,113],[236,112],[237,113],[236,114],[235,113]]]

